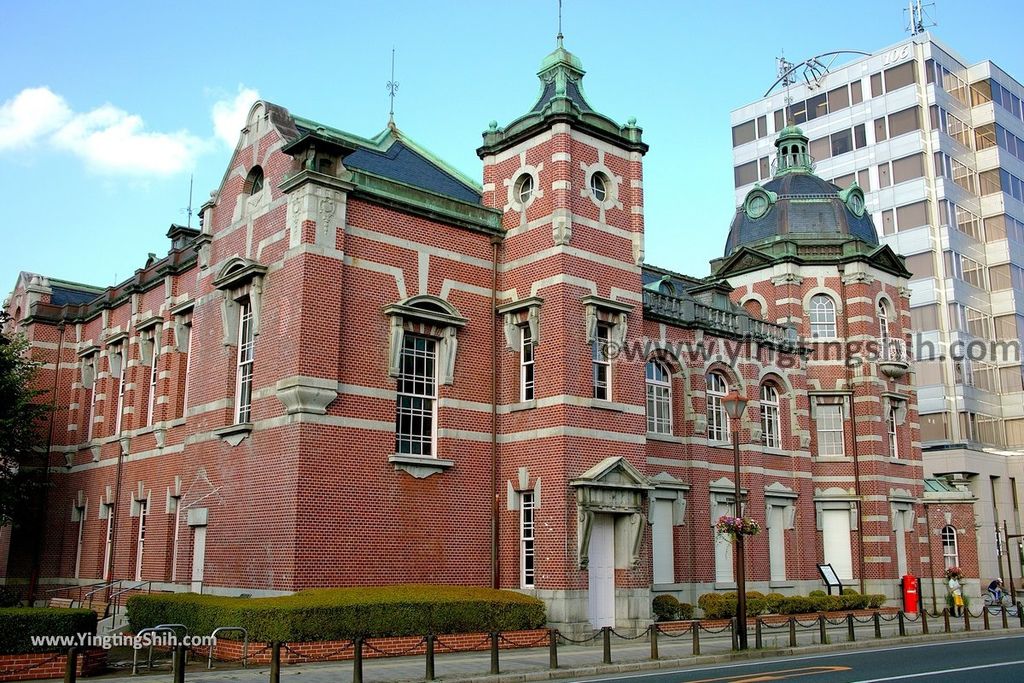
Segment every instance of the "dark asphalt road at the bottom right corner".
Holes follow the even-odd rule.
[[[1024,681],[1022,647],[1024,636],[994,636],[575,680],[629,683],[1009,683]]]

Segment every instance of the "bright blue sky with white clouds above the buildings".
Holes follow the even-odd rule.
[[[896,0],[851,3],[565,0],[565,46],[596,109],[636,117],[647,260],[694,275],[721,254],[733,206],[729,112],[799,61],[898,42]],[[166,253],[217,187],[257,95],[361,135],[396,122],[473,178],[492,119],[538,94],[556,0],[13,2],[0,4],[0,292],[20,270],[111,285]],[[1024,79],[1019,5],[940,2],[932,31]],[[194,225],[198,221],[194,220]]]

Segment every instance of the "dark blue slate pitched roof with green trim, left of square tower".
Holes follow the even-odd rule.
[[[343,160],[347,168],[367,171],[462,202],[480,203],[480,185],[412,140],[393,124],[373,138],[366,138],[309,119],[293,118],[300,135],[316,133],[354,147],[355,152]]]

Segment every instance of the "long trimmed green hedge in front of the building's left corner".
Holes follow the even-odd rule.
[[[546,616],[544,603],[522,593],[403,585],[314,589],[276,598],[137,595],[128,599],[128,623],[136,633],[158,624],[184,624],[195,635],[241,626],[252,641],[314,642],[537,629]]]

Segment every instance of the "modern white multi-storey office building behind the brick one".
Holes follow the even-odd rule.
[[[790,119],[810,138],[817,175],[864,191],[883,243],[913,273],[926,476],[977,497],[982,577],[1020,579],[997,529],[1007,520],[1021,533],[1024,86],[927,32],[828,69],[831,58],[796,67],[732,113],[736,203],[771,177]]]

